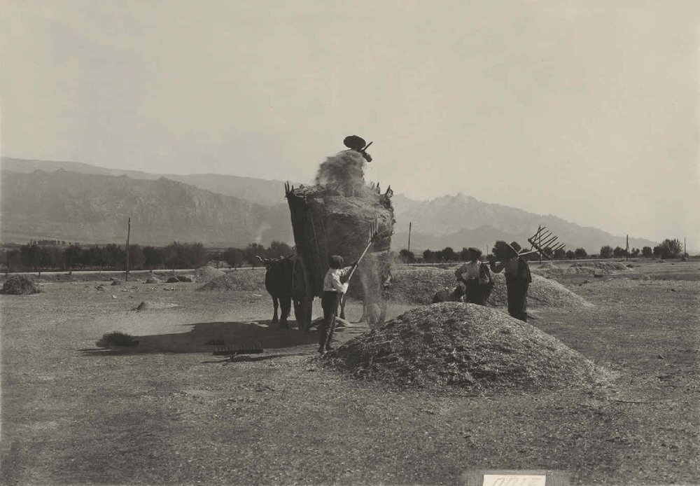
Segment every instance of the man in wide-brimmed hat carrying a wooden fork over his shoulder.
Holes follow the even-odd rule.
[[[493,256],[489,258],[491,271],[505,270],[505,286],[508,293],[508,314],[527,322],[527,291],[532,282],[530,267],[524,256],[520,256],[520,245],[516,242],[496,242]],[[499,261],[496,264],[496,260]]]

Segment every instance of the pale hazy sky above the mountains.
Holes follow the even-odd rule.
[[[688,1],[30,1],[0,9],[1,153],[367,179],[700,248]]]

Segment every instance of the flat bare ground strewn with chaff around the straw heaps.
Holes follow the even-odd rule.
[[[700,262],[632,265],[552,277],[594,307],[532,307],[531,324],[614,382],[519,395],[435,395],[325,370],[315,333],[269,324],[259,285],[45,282],[0,296],[2,484],[458,484],[480,468],[700,484]],[[133,310],[144,300],[177,307]],[[355,321],[361,305],[348,310]],[[109,331],[139,346],[98,349]],[[211,340],[265,353],[223,364]]]

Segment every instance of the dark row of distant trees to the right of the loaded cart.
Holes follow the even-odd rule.
[[[682,246],[678,239],[664,239],[664,242],[657,245],[656,247],[643,247],[642,249],[633,248],[629,252],[622,247],[612,248],[608,245],[601,247],[600,254],[591,255],[593,258],[623,258],[626,256],[638,257],[644,256],[647,258],[678,258],[682,254]],[[461,249],[461,251],[454,251],[451,247],[445,247],[442,250],[425,250],[423,251],[422,261],[425,263],[447,263],[456,261],[468,261],[469,253],[466,248]],[[554,260],[574,260],[576,258],[588,258],[588,252],[583,248],[577,248],[575,250],[564,250],[558,249],[552,254],[548,254],[549,258]],[[419,258],[412,251],[403,249],[399,251],[398,258],[402,263],[416,263]],[[531,254],[528,258],[539,258],[537,254]]]

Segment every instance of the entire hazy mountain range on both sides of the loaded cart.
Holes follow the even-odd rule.
[[[0,237],[5,242],[121,242],[130,217],[131,241],[139,244],[293,243],[281,181],[222,174],[151,174],[7,157],[1,163]],[[540,225],[552,230],[567,249],[582,247],[592,254],[606,244],[625,246],[621,235],[463,194],[428,201],[395,194],[392,202],[396,250],[408,246],[409,222],[412,251],[448,246],[489,249],[496,239],[525,246]],[[640,248],[657,243],[630,238],[629,244]]]

